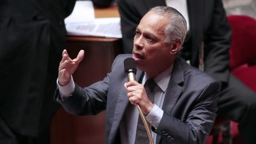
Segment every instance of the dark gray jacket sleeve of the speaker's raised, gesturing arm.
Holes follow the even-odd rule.
[[[119,55],[120,56],[120,55]],[[113,62],[112,70],[116,65],[120,65],[119,56]],[[118,61],[118,62],[117,62]],[[122,61],[123,62],[123,61]],[[116,64],[118,63],[118,64]],[[89,87],[79,87],[75,85],[75,91],[72,96],[62,100],[59,95],[59,90],[56,89],[54,99],[62,104],[66,111],[75,115],[95,115],[104,111],[107,107],[108,89],[110,87],[110,79],[112,72],[107,73],[107,76],[102,81],[95,82]]]

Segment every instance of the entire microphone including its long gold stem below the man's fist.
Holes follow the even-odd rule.
[[[126,73],[128,81],[132,81],[132,80],[136,81],[136,77],[135,77],[136,72],[137,72],[137,69],[136,69],[136,65],[135,65],[135,60],[132,57],[128,57],[128,58],[124,59],[124,73]],[[136,105],[137,110],[139,111],[139,115],[142,118],[142,121],[144,123],[146,132],[149,137],[149,142],[151,144],[154,144],[153,137],[151,135],[151,129],[149,128],[148,122],[146,121],[146,117],[142,113],[140,106],[137,104],[135,104],[135,105]]]

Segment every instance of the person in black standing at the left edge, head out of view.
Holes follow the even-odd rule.
[[[0,143],[50,143],[64,18],[75,0],[3,0],[0,5]]]

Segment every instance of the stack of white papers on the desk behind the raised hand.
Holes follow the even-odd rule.
[[[91,1],[76,1],[65,19],[69,35],[121,38],[120,18],[95,18]]]

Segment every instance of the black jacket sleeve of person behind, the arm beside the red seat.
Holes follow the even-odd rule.
[[[204,70],[222,84],[226,84],[229,79],[229,47],[232,31],[222,1],[216,0],[213,7],[211,25],[204,37]]]

